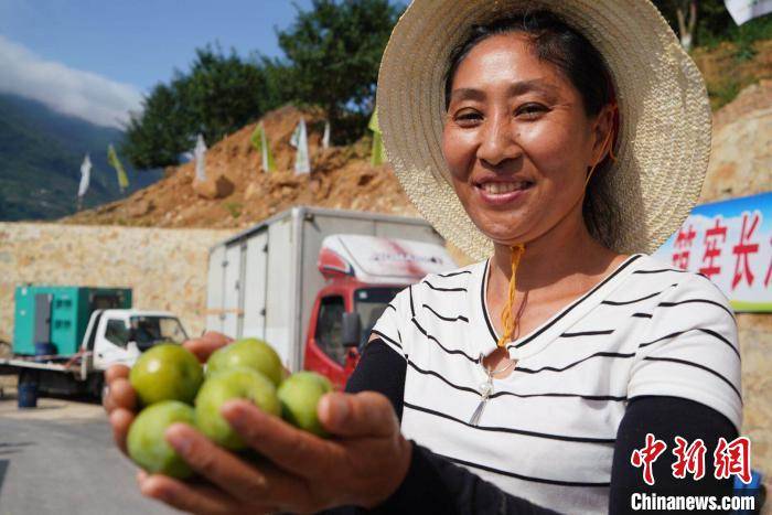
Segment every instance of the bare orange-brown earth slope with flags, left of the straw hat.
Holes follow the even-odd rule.
[[[300,117],[309,128],[312,172],[296,175],[289,140]],[[369,164],[369,139],[352,147],[323,149],[319,112],[293,107],[262,119],[277,171],[264,173],[250,143],[255,125],[244,127],[206,154],[205,183],[194,163],[169,168],[165,178],[130,197],[64,218],[67,224],[159,227],[244,227],[293,205],[415,215],[388,165]]]

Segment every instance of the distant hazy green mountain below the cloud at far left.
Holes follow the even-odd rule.
[[[119,197],[107,146],[122,132],[53,111],[43,104],[0,94],[0,221],[52,219],[75,212],[81,163],[90,152],[94,168],[85,206]],[[156,182],[158,171],[138,174],[127,167],[129,192]]]

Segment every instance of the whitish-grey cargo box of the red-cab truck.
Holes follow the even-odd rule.
[[[325,285],[319,253],[335,234],[444,244],[419,218],[293,207],[211,249],[206,329],[264,339],[288,368],[300,369],[313,302]]]

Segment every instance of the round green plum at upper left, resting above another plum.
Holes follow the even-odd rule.
[[[144,352],[131,367],[129,382],[141,406],[161,400],[192,404],[204,371],[195,355],[175,343],[163,343]]]

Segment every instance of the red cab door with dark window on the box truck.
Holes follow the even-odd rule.
[[[342,333],[344,312],[343,296],[322,297],[315,311],[313,336],[305,348],[305,368],[326,376],[337,388],[343,388],[346,380],[343,369],[346,358]]]

